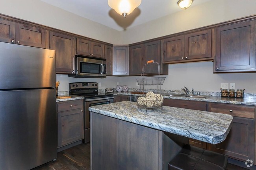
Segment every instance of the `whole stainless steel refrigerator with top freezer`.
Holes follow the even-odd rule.
[[[57,158],[55,51],[0,42],[0,169]]]

